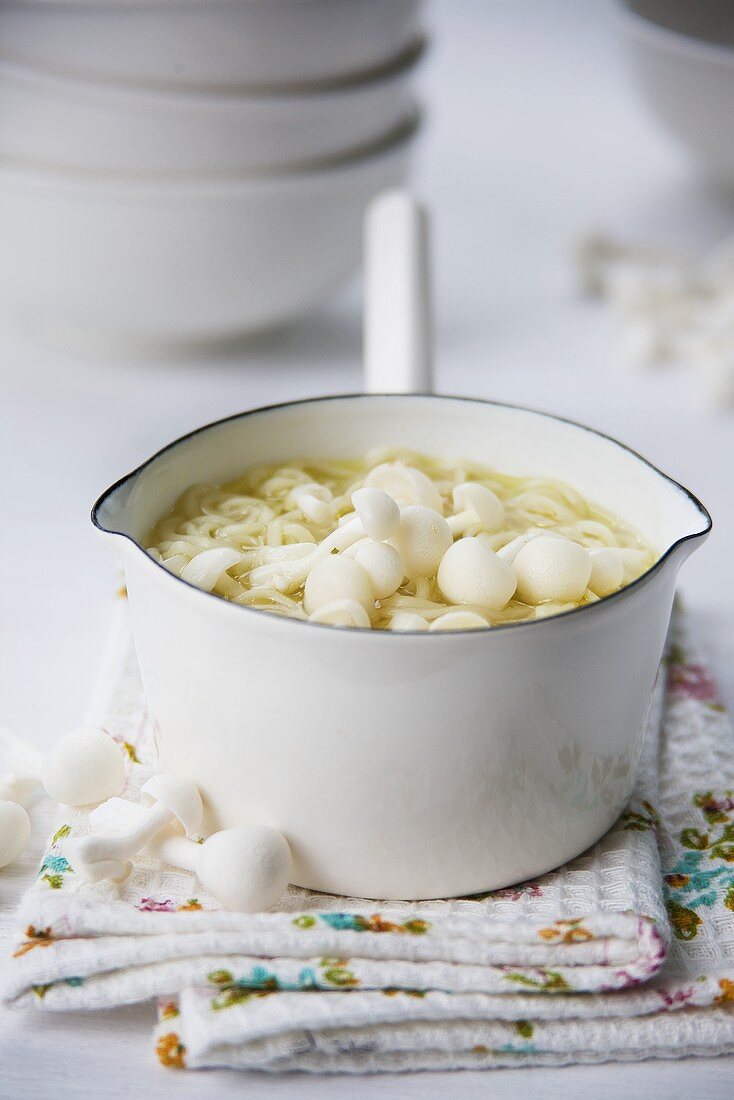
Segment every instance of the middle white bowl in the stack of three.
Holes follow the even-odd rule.
[[[381,77],[298,95],[128,88],[0,62],[0,155],[131,174],[273,170],[355,155],[415,112],[419,53]]]

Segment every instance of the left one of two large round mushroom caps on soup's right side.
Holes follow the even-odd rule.
[[[479,539],[459,539],[438,566],[438,586],[452,604],[476,604],[502,610],[515,594],[512,565],[497,558]]]

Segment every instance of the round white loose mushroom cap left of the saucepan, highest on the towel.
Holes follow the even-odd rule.
[[[46,793],[56,802],[87,806],[120,792],[124,754],[103,729],[73,729],[47,755],[41,776]]]

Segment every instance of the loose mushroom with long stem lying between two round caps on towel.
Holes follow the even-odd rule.
[[[124,864],[173,822],[179,822],[187,834],[196,833],[201,825],[201,796],[188,780],[176,776],[154,776],[143,783],[141,793],[152,804],[144,807],[132,823],[128,820],[127,825],[122,820],[116,821],[116,810],[121,811],[125,805],[122,799],[109,800],[92,811],[89,815],[92,834],[76,843],[77,860],[83,869],[89,868],[90,873],[94,873],[94,865]],[[122,806],[117,807],[110,803],[122,803]],[[95,827],[105,832],[95,833]]]

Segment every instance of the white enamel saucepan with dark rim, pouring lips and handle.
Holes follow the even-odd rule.
[[[383,367],[394,387],[420,388],[425,264],[395,256],[401,242],[403,257],[419,253],[420,218],[393,197],[372,228],[368,388]],[[397,321],[385,323],[385,302]],[[395,442],[569,482],[658,560],[565,615],[403,634],[243,607],[141,548],[195,483]],[[686,488],[606,436],[526,408],[417,393],[293,402],[208,425],[103,493],[92,518],[124,563],[162,767],[199,784],[211,829],[281,829],[297,884],[383,899],[517,882],[613,824],[634,787],[678,570],[711,528]]]

